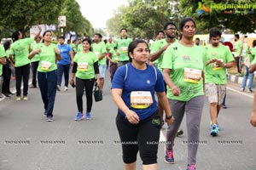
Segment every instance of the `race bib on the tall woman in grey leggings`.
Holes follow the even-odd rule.
[[[198,83],[201,80],[201,70],[184,68],[184,82]]]

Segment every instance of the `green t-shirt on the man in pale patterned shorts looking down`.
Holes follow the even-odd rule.
[[[224,45],[219,45],[217,48],[214,48],[209,44],[206,49],[207,61],[210,59],[219,59],[224,63],[229,63],[234,60],[230,48],[227,48]],[[205,69],[205,83],[226,84],[226,68],[216,65],[216,63],[207,65]]]

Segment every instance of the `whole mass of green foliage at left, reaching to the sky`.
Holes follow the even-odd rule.
[[[94,31],[89,20],[80,12],[76,0],[0,0],[0,37],[10,37],[20,29],[28,37],[31,26],[55,24],[58,17],[66,15],[65,31],[75,31],[82,36],[92,36]],[[58,36],[60,32],[55,32]]]

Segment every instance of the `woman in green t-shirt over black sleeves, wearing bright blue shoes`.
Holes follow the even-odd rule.
[[[100,84],[98,58],[96,54],[91,52],[91,40],[89,37],[82,41],[82,48],[79,54],[76,54],[73,59],[73,71],[71,75],[70,84],[74,87],[74,77],[76,77],[76,96],[78,105],[78,114],[76,121],[84,119],[83,113],[83,95],[85,88],[86,96],[86,115],[87,120],[90,119],[90,111],[92,106],[92,90],[96,79],[96,83]]]

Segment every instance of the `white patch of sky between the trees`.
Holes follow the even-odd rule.
[[[126,0],[77,0],[83,16],[93,28],[106,28],[106,22],[113,17],[113,11],[121,5],[128,5]]]

